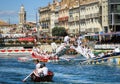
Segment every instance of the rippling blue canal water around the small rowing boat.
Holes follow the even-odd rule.
[[[53,82],[33,83],[30,78],[33,62],[19,62],[17,58],[0,58],[0,84],[119,84],[120,67],[110,65],[80,65],[77,63],[47,63],[54,72]]]

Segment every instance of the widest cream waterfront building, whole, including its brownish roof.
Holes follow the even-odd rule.
[[[80,30],[90,34],[102,31],[100,0],[80,2]]]

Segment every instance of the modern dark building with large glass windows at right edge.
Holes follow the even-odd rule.
[[[120,0],[108,0],[108,21],[112,32],[120,31]]]

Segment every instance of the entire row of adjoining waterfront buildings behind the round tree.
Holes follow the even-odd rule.
[[[50,34],[55,26],[75,35],[120,31],[119,0],[53,0],[39,14],[42,31]]]

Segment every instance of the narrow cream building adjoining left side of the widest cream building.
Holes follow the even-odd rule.
[[[77,1],[71,0],[69,7],[69,34],[76,35],[79,33],[79,3]]]

